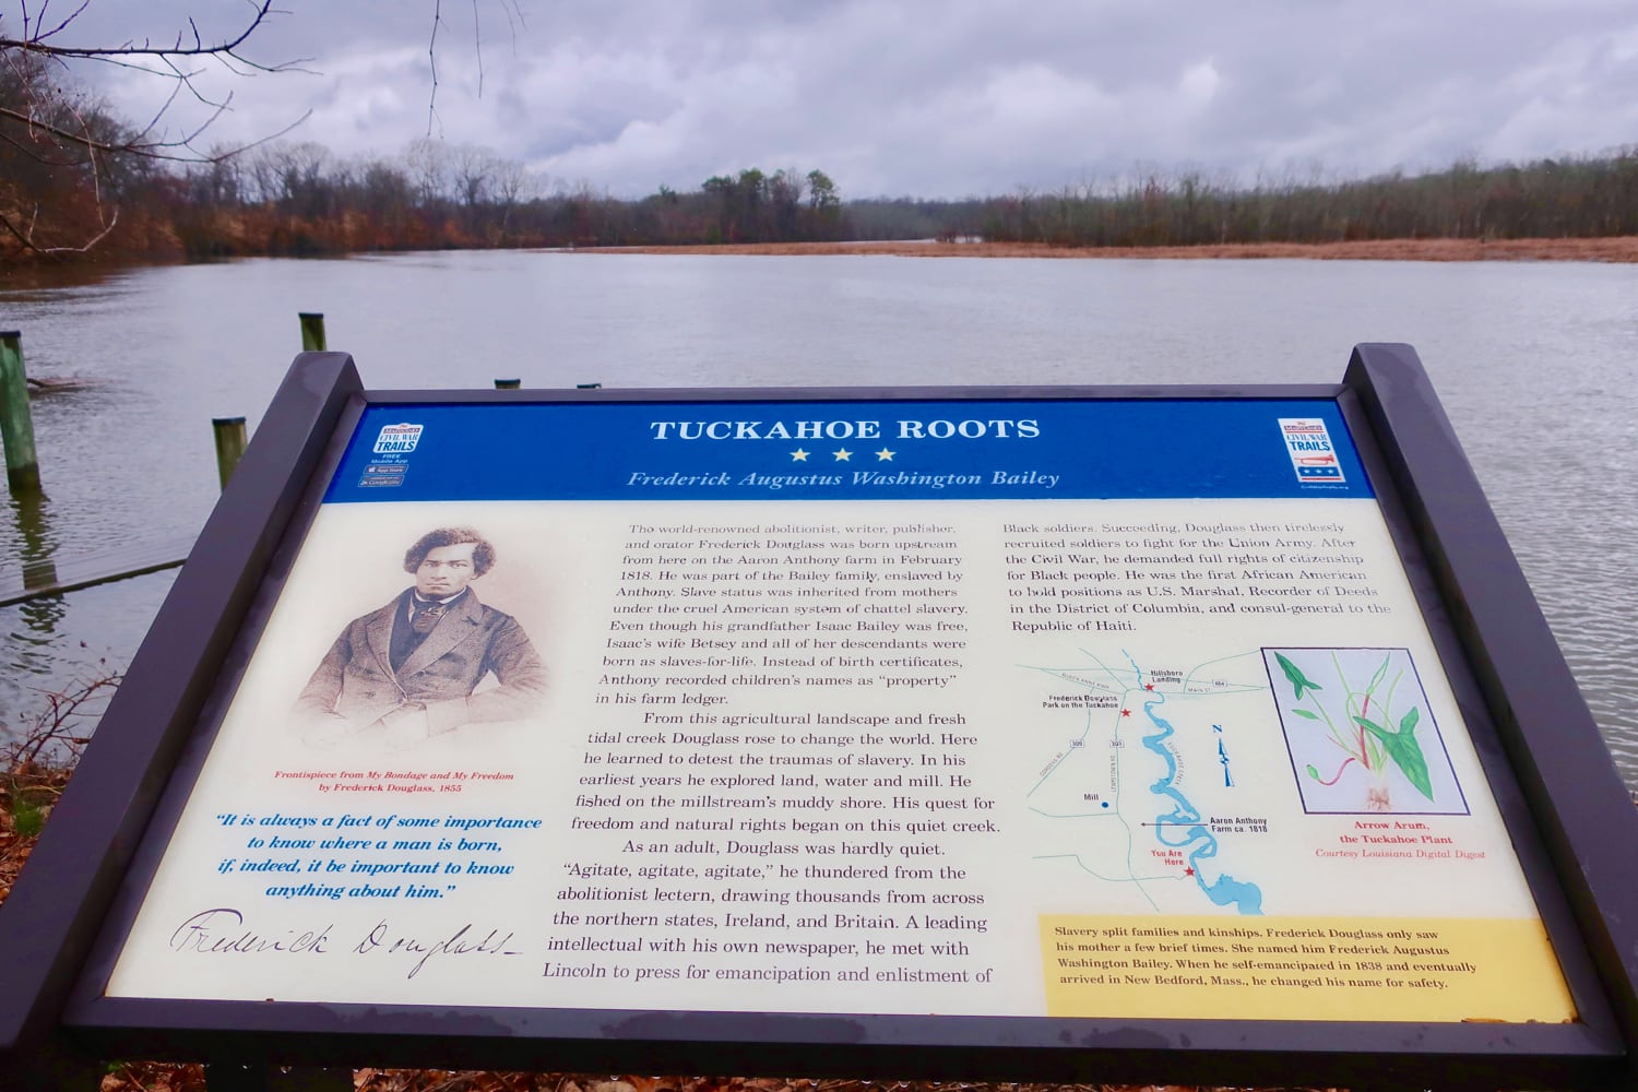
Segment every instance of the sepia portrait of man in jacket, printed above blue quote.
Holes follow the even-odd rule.
[[[414,583],[354,619],[296,699],[305,735],[336,743],[367,729],[410,747],[468,724],[516,720],[545,696],[545,665],[514,617],[470,586],[495,547],[470,527],[439,527],[405,553]],[[480,684],[493,676],[488,689]]]

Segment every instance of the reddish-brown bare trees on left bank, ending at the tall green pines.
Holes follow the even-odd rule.
[[[205,54],[228,56],[265,18]],[[72,20],[72,16],[70,16]],[[25,31],[29,31],[25,21]],[[316,255],[429,247],[676,246],[848,234],[822,170],[750,167],[640,200],[552,185],[470,144],[337,157],[311,141],[200,149],[121,121],[64,79],[84,51],[0,38],[0,259]],[[93,51],[95,52],[95,51]],[[147,61],[174,51],[116,49]],[[183,49],[182,52],[190,52]],[[198,51],[192,51],[198,52]],[[265,69],[264,69],[265,70]],[[193,90],[187,75],[182,90]]]

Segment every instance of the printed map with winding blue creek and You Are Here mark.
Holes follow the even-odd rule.
[[[1078,714],[1027,792],[1030,812],[1058,820],[1037,860],[1099,881],[1111,910],[1261,914],[1258,884],[1219,860],[1219,835],[1268,830],[1233,769],[1237,738],[1268,719],[1258,655],[1188,670],[1083,655],[1032,668],[1061,684],[1043,704]]]

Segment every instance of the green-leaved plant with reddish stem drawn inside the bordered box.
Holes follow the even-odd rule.
[[[1366,787],[1364,810],[1389,812],[1392,810],[1392,799],[1387,786],[1387,769],[1389,763],[1392,763],[1417,792],[1428,801],[1433,799],[1433,781],[1428,776],[1428,765],[1422,756],[1422,743],[1415,733],[1417,724],[1422,720],[1422,712],[1412,706],[1399,715],[1397,724],[1394,722],[1394,691],[1399,688],[1404,671],[1394,671],[1389,676],[1392,653],[1382,657],[1382,663],[1378,665],[1364,689],[1351,689],[1342,661],[1332,652],[1332,665],[1337,668],[1337,683],[1343,694],[1338,719],[1332,717],[1332,711],[1325,707],[1325,702],[1319,696],[1325,689],[1322,684],[1304,675],[1302,668],[1284,655],[1276,652],[1274,660],[1286,675],[1286,681],[1291,683],[1292,699],[1305,702],[1291,706],[1289,712],[1304,720],[1324,724],[1328,742],[1345,755],[1342,765],[1337,766],[1330,778],[1320,776],[1320,771],[1309,763],[1309,778],[1328,787],[1342,779],[1348,766],[1358,765],[1371,778]]]

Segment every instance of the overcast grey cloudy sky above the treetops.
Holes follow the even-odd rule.
[[[61,0],[57,0],[61,3]],[[75,0],[77,2],[77,0]],[[213,141],[426,136],[436,0],[278,0]],[[1638,144],[1635,0],[442,0],[431,134],[616,196],[760,167],[844,196],[1135,169],[1360,177]],[[38,0],[28,5],[33,13]],[[67,5],[48,8],[67,15]],[[15,34],[18,0],[0,0]],[[246,0],[90,0],[59,41],[242,28]],[[482,87],[480,87],[482,67]],[[98,77],[129,120],[164,88]],[[180,121],[180,115],[172,118]]]

